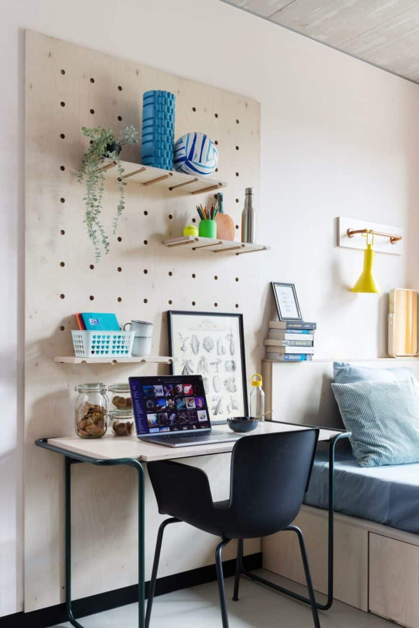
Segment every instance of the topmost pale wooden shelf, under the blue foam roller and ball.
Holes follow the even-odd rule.
[[[118,178],[118,168],[116,162],[106,159],[101,170],[106,171],[106,176],[114,179]],[[135,181],[142,185],[163,187],[174,195],[178,194],[203,194],[212,190],[220,190],[226,187],[225,181],[210,179],[208,176],[185,175],[182,172],[172,170],[161,170],[152,166],[143,166],[140,163],[131,161],[121,161],[124,169],[124,181]]]

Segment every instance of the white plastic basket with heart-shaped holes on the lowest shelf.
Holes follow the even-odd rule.
[[[131,357],[135,332],[71,332],[76,357]]]

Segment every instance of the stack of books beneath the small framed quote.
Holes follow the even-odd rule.
[[[313,359],[316,323],[270,320],[265,340],[267,360],[305,362]]]

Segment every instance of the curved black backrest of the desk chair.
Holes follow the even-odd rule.
[[[232,453],[230,509],[244,538],[267,536],[297,516],[319,430],[245,436]]]

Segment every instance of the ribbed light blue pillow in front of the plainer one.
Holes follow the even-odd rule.
[[[332,384],[360,467],[419,462],[419,399],[413,379]]]

